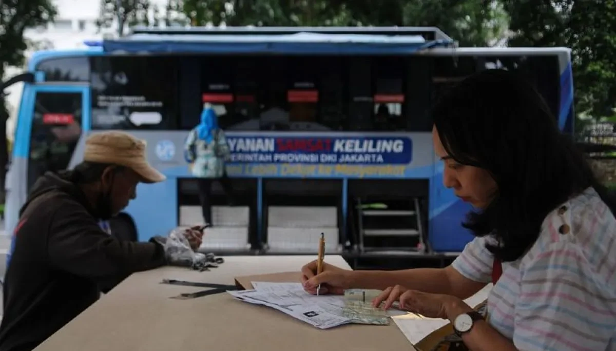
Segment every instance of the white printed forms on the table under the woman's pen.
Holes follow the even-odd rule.
[[[253,290],[227,292],[241,301],[272,307],[320,329],[351,323],[351,319],[344,316],[344,296],[315,296],[304,291],[301,283],[251,283]],[[406,312],[390,310],[388,314],[400,315]]]

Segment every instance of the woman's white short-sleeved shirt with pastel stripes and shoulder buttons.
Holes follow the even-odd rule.
[[[490,282],[486,240],[467,244],[453,268]],[[488,317],[519,350],[616,350],[616,219],[593,188],[550,212],[532,248],[503,262]]]

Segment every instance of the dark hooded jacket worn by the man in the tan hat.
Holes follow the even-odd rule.
[[[154,241],[119,241],[66,173],[47,172],[20,210],[4,280],[0,351],[32,350],[131,273],[165,264]]]

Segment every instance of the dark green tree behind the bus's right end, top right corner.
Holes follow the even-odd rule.
[[[509,46],[572,49],[575,109],[616,117],[616,0],[509,0]]]

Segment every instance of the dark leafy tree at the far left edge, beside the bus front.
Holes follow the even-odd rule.
[[[50,0],[2,0],[0,3],[0,79],[7,67],[22,67],[28,42],[23,36],[26,28],[46,25],[53,20],[56,9]],[[6,121],[9,113],[0,92],[0,193],[4,202],[4,179],[9,160],[6,140]]]

